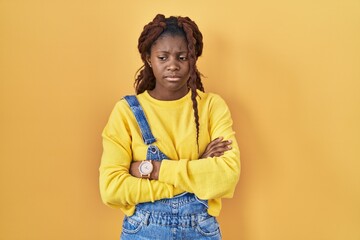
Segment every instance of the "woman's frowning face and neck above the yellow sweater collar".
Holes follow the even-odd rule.
[[[176,100],[188,92],[190,77],[187,42],[184,37],[160,36],[147,58],[156,78],[150,95],[159,100]]]

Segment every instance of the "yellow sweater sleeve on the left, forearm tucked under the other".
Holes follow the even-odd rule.
[[[127,106],[126,106],[127,107]],[[105,126],[103,154],[100,164],[100,194],[103,202],[115,208],[129,208],[141,202],[171,198],[179,193],[169,183],[140,179],[130,175],[133,160],[131,148],[130,111],[118,103]],[[136,122],[132,123],[136,126]]]

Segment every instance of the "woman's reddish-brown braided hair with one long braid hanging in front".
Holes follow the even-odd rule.
[[[135,78],[135,91],[140,94],[146,90],[153,90],[156,85],[156,79],[153,71],[146,61],[150,55],[151,47],[154,42],[162,35],[169,34],[171,36],[181,36],[187,41],[188,61],[190,66],[190,77],[187,82],[188,88],[191,90],[191,100],[193,103],[194,118],[196,125],[196,142],[199,150],[199,114],[198,103],[196,97],[197,90],[204,92],[201,82],[201,73],[196,67],[196,61],[201,56],[203,50],[203,37],[194,21],[188,17],[165,18],[164,15],[158,14],[152,22],[144,26],[138,41],[138,50],[144,65],[137,71]]]

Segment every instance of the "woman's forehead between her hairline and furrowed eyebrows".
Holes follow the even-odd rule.
[[[183,36],[162,35],[152,45],[151,51],[187,51],[187,41]]]

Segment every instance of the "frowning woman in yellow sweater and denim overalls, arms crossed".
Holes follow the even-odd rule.
[[[221,198],[233,196],[240,153],[223,99],[204,93],[202,34],[158,14],[140,35],[136,97],[103,131],[100,192],[126,215],[121,239],[221,239]]]

